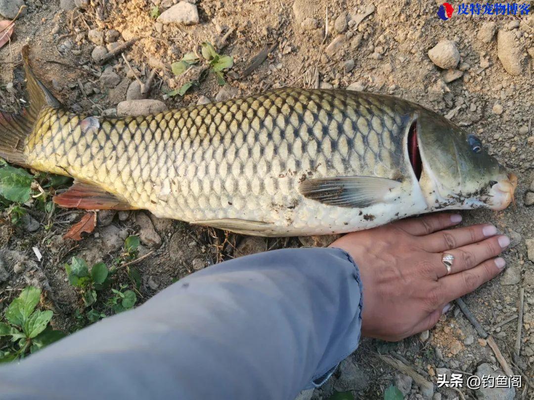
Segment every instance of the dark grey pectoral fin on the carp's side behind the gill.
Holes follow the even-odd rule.
[[[387,201],[400,182],[377,177],[337,177],[308,179],[300,183],[300,193],[309,199],[339,207],[365,208]]]

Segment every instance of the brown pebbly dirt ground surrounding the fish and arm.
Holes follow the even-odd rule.
[[[439,3],[424,0],[199,0],[199,23],[184,26],[162,25],[151,16],[154,6],[161,13],[172,0],[81,0],[76,4],[84,6],[67,0],[61,5],[58,0],[26,0],[26,15],[16,22],[11,42],[0,50],[3,109],[13,109],[21,98],[20,76],[13,74],[13,68],[19,64],[21,46],[29,43],[38,77],[66,107],[78,113],[114,115],[132,83],[136,79],[147,82],[155,71],[148,98],[162,100],[168,108],[206,101],[203,97],[211,101],[281,86],[345,89],[350,85],[418,102],[476,133],[490,153],[517,174],[519,187],[516,205],[504,211],[462,212],[466,224],[491,222],[512,238],[504,253],[505,273],[464,300],[491,332],[514,373],[533,377],[534,242],[530,259],[527,244],[534,239],[534,206],[527,205],[527,193],[529,187],[534,191],[534,15],[516,20],[497,17],[492,26],[477,15],[457,15],[457,4],[453,17],[442,21],[437,17]],[[93,29],[96,31],[88,35]],[[500,35],[501,46],[517,52],[498,50]],[[104,67],[91,56],[95,46],[112,49],[133,37],[139,39],[124,51],[125,58],[119,55],[107,63],[118,77],[111,83],[104,81],[100,77]],[[436,66],[428,55],[442,40],[453,41],[459,51],[458,66],[449,71]],[[168,97],[166,93],[184,83],[184,78],[172,74],[171,63],[204,41],[233,56],[227,86],[221,89],[215,77],[208,76],[183,98]],[[253,57],[267,50],[265,61],[244,74]],[[514,68],[519,73],[511,75]],[[33,228],[28,221],[0,226],[4,251],[0,257],[7,257],[6,250],[12,251],[9,254],[26,266],[22,273],[10,271],[9,278],[0,281],[0,311],[22,287],[36,284],[43,287],[47,304],[55,312],[54,327],[69,332],[88,322],[76,317],[83,303],[66,279],[64,263],[73,255],[90,265],[100,260],[108,266],[117,259],[120,262],[128,235],[140,234],[142,239],[138,257],[144,258],[132,264],[141,276],[138,303],[175,279],[217,261],[281,247],[327,245],[332,240],[245,237],[152,215],[149,219],[147,214],[107,212],[99,215],[95,233],[74,242],[62,235],[83,212],[59,209],[47,214],[33,204],[25,207],[39,223],[37,229],[29,231]],[[42,253],[41,261],[32,247]],[[131,285],[125,268],[115,279],[116,286]],[[518,313],[521,288],[525,293],[521,351],[514,357],[517,319],[513,317]],[[104,291],[95,305],[106,315],[112,314],[105,304],[110,296],[111,291]],[[511,321],[502,323],[508,319]],[[497,397],[483,397],[467,388],[458,393],[437,385],[431,391],[423,389],[379,357],[389,354],[434,383],[440,368],[466,377],[481,363],[501,368],[490,346],[478,339],[472,324],[455,307],[433,330],[420,336],[398,343],[363,340],[323,387],[304,396],[327,399],[334,391],[350,390],[355,398],[378,399],[391,383],[399,387],[404,382],[404,394],[410,399],[514,398],[510,393],[499,397],[493,392],[484,396]],[[534,389],[523,383],[515,398],[534,398]]]

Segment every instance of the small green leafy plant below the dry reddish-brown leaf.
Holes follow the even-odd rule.
[[[109,270],[103,262],[98,262],[91,268],[85,260],[73,257],[70,264],[65,264],[68,281],[80,288],[85,307],[97,301],[97,291],[105,289],[109,284]]]

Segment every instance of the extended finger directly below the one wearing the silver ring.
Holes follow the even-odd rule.
[[[473,292],[478,286],[493,279],[502,271],[506,262],[501,257],[486,260],[475,268],[439,279],[444,300],[452,301]]]

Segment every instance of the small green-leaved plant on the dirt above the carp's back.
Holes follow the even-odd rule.
[[[215,48],[209,42],[201,44],[202,58],[208,66],[208,72],[214,73],[217,77],[217,83],[221,86],[225,84],[223,70],[233,67],[233,58],[230,55],[218,54]],[[172,73],[180,76],[187,71],[191,66],[201,61],[200,56],[196,52],[189,52],[182,57],[180,61],[172,63]],[[183,84],[179,89],[167,93],[169,96],[179,94],[183,96],[193,85],[198,86],[200,81],[206,77],[207,74],[201,74],[198,79],[189,81]]]

